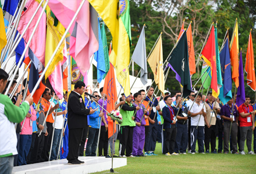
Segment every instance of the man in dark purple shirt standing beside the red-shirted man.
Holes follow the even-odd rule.
[[[232,109],[233,115],[232,115]],[[229,137],[230,137],[230,124],[232,123],[231,128],[231,139],[232,139],[232,153],[237,153],[237,131],[238,131],[238,117],[239,113],[237,112],[236,106],[233,106],[233,99],[229,100],[225,105],[221,108],[221,118],[224,120],[223,124],[223,145],[224,145],[224,153],[229,153]]]

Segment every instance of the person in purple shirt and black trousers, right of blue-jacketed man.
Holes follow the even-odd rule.
[[[103,87],[99,89],[99,92],[101,93],[101,99],[99,99],[98,103],[99,106],[103,106],[103,108],[106,110],[106,94],[103,92]],[[104,105],[103,105],[103,99],[104,99]],[[102,110],[101,107],[99,107],[100,110]],[[106,111],[103,110],[104,117],[102,117],[101,122],[101,132],[99,135],[99,157],[104,156],[106,158],[110,157],[108,155],[108,121],[106,117]],[[102,148],[104,150],[104,155],[102,155]]]

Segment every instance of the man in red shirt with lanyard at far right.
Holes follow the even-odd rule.
[[[255,111],[253,111],[253,107],[249,105],[250,96],[246,96],[246,102],[239,106],[239,121],[240,121],[240,153],[245,155],[244,153],[244,142],[246,141],[246,145],[248,148],[248,154],[254,154],[251,151],[251,139],[254,131],[254,121],[253,115],[255,115]]]

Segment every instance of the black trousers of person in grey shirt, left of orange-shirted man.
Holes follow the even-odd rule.
[[[37,162],[43,162],[42,159],[42,149],[44,148],[44,140],[45,140],[45,133],[41,133],[41,135],[38,137],[39,133],[35,135],[35,143],[34,148],[31,152],[30,162],[31,164],[37,163]]]

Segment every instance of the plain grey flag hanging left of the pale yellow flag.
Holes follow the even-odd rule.
[[[138,38],[137,45],[134,49],[131,59],[141,68],[140,80],[143,85],[148,82],[148,69],[147,69],[147,52],[145,43],[145,31],[144,28],[141,31],[140,38]]]

